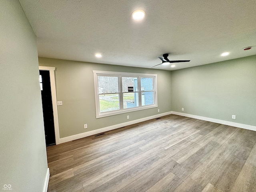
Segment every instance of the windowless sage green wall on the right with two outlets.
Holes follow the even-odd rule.
[[[256,126],[255,55],[171,74],[172,111]]]

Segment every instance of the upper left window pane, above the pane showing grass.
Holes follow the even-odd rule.
[[[98,76],[98,93],[118,93],[118,77]]]

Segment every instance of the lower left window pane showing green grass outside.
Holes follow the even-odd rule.
[[[99,95],[100,113],[119,110],[119,94]]]

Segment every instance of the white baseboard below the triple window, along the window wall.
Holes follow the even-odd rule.
[[[150,120],[150,119],[154,119],[154,118],[158,118],[158,117],[162,117],[162,116],[166,116],[166,115],[170,115],[170,114],[172,114],[172,112],[161,113],[161,114],[157,114],[157,115],[153,115],[153,116],[149,116],[149,117],[145,117],[145,118],[141,118],[141,119],[136,119],[136,120],[133,120],[133,121],[128,121],[128,122],[124,122],[124,123],[104,127],[104,128],[101,128],[101,129],[96,129],[96,130],[93,130],[93,131],[88,131],[88,132],[84,132],[84,133],[80,133],[80,134],[60,138],[60,143],[65,143],[65,142],[68,142],[68,141],[88,137],[88,136],[91,136],[91,135],[99,134],[99,133],[102,133],[102,132],[114,130],[114,129],[121,128],[121,127],[124,127],[124,126],[140,123],[140,122],[143,122],[143,121],[147,121],[147,120]]]

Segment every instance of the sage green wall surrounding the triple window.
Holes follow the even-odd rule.
[[[55,66],[60,138],[171,111],[171,72],[107,64],[39,58],[40,66]],[[158,74],[158,108],[96,119],[92,70]],[[160,109],[160,113],[158,113]],[[126,116],[130,119],[127,120]],[[84,129],[84,124],[88,125]]]

